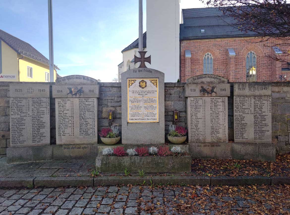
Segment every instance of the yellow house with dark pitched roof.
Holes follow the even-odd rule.
[[[57,69],[55,65],[53,82]],[[49,60],[27,42],[0,30],[0,81],[49,82]]]

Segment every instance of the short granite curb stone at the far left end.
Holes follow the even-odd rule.
[[[35,177],[0,178],[0,187],[33,187]]]

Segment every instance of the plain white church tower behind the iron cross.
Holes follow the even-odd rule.
[[[179,25],[180,0],[146,0],[148,67],[164,72],[165,82],[179,78]]]

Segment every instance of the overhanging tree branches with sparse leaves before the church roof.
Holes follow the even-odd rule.
[[[257,35],[257,42],[278,46],[280,55],[270,56],[282,62],[290,61],[290,1],[289,0],[201,0],[211,7],[219,7],[229,23],[239,31]],[[251,41],[252,43],[253,40]]]

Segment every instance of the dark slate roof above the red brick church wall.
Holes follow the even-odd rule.
[[[213,39],[256,36],[232,27],[236,20],[226,16],[219,8],[183,9],[183,24],[180,24],[180,40]],[[204,33],[201,32],[204,29]]]

